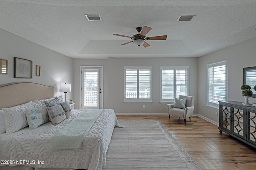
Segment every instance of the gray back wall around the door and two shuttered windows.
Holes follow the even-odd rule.
[[[198,58],[108,58],[75,59],[74,82],[79,82],[80,66],[104,66],[104,108],[114,109],[116,113],[166,113],[166,104],[160,104],[160,66],[189,66],[189,92],[195,97],[197,113]],[[124,104],[124,66],[153,66],[153,103]],[[79,83],[74,88],[79,89]],[[74,91],[75,102],[79,101],[79,90]],[[142,108],[145,105],[145,108]],[[79,108],[79,105],[76,105]]]

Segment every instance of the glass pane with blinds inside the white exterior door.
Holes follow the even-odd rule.
[[[98,106],[98,72],[84,72],[84,106]]]

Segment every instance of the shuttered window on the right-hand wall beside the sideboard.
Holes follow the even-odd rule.
[[[218,107],[227,98],[227,61],[208,64],[208,106]]]

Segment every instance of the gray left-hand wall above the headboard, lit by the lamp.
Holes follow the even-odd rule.
[[[14,78],[14,57],[33,61],[33,78]],[[3,29],[0,29],[0,58],[8,60],[8,74],[0,74],[0,84],[35,82],[54,86],[55,95],[63,94],[59,92],[60,83],[66,82],[73,85],[74,59]],[[36,65],[41,66],[40,77],[36,76]],[[73,98],[72,92],[68,92],[68,98]]]

